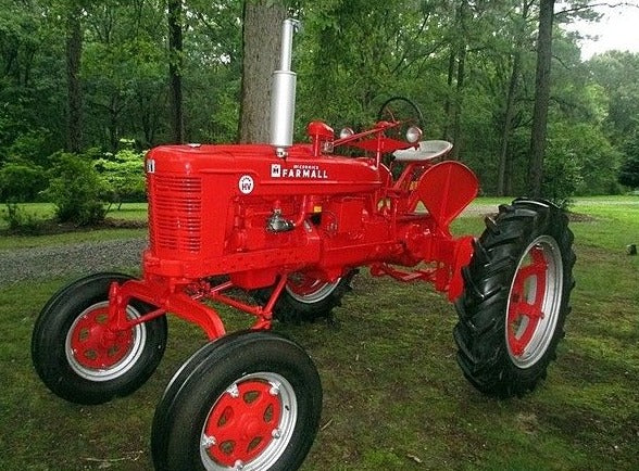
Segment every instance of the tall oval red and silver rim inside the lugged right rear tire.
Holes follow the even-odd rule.
[[[546,353],[561,305],[562,260],[549,236],[524,252],[513,279],[506,310],[506,341],[515,364],[527,368]]]

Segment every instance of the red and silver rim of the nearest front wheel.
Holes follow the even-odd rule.
[[[205,468],[268,469],[290,441],[296,419],[288,381],[275,373],[245,377],[209,412],[200,443]]]

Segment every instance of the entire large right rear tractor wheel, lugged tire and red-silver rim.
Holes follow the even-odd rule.
[[[567,224],[552,203],[518,199],[475,241],[453,335],[464,375],[484,394],[532,391],[556,357],[575,285]]]

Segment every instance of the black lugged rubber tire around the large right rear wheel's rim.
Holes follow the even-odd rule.
[[[522,252],[539,233],[552,236],[560,247],[564,268],[562,301],[546,354],[530,368],[519,369],[510,359],[505,345],[505,309]],[[501,205],[496,219],[487,218],[486,230],[475,242],[473,258],[462,271],[464,293],[455,302],[459,322],[453,331],[458,362],[466,379],[483,393],[500,398],[521,396],[546,378],[571,310],[576,259],[573,240],[567,217],[547,201],[518,199],[511,205]]]

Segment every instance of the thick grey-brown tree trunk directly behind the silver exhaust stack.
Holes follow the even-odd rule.
[[[242,89],[240,142],[267,142],[271,110],[271,75],[278,66],[283,1],[247,0],[242,23]]]

